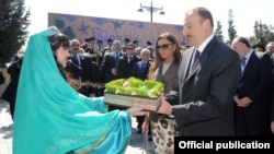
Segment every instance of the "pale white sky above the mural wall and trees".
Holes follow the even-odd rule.
[[[274,25],[274,0],[25,0],[31,9],[30,35],[44,31],[48,26],[48,13],[65,13],[93,17],[107,17],[150,22],[150,12],[137,10],[141,5],[163,7],[164,15],[152,13],[153,23],[183,24],[184,13],[195,7],[207,8],[222,25],[222,35],[228,38],[228,10],[233,12],[238,36],[253,35],[254,22]]]

